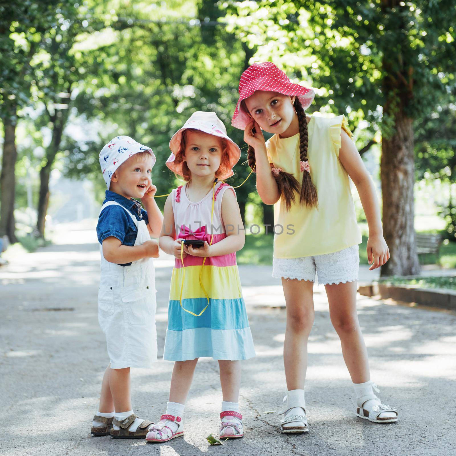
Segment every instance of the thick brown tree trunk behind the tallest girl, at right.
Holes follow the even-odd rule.
[[[382,141],[383,236],[391,258],[382,266],[381,275],[416,275],[420,263],[414,228],[413,126],[401,106],[394,118],[394,134]]]

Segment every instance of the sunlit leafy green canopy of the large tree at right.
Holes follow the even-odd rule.
[[[383,134],[401,102],[416,119],[455,87],[456,5],[444,1],[228,2],[228,30],[317,89],[315,107]],[[383,112],[381,107],[387,109]],[[388,114],[384,119],[383,114]]]

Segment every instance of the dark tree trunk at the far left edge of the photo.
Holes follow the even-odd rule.
[[[10,243],[17,242],[15,234],[14,201],[15,201],[15,166],[17,159],[16,150],[16,106],[5,116],[3,126],[5,129],[5,142],[3,144],[2,168],[0,175],[0,236],[8,236]]]

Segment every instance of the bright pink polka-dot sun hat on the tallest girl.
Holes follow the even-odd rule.
[[[303,109],[307,109],[315,97],[312,88],[303,87],[292,83],[288,76],[272,62],[254,63],[247,68],[241,75],[239,81],[239,99],[234,110],[231,124],[233,127],[244,130],[249,123],[249,115],[240,107],[240,103],[245,98],[249,98],[257,90],[267,92],[278,92],[284,95],[299,98]]]

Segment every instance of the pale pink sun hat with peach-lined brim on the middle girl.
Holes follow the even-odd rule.
[[[241,150],[239,149],[238,145],[227,135],[225,125],[223,125],[223,122],[217,117],[217,114],[213,112],[194,112],[189,117],[184,126],[176,131],[170,141],[171,155],[166,161],[166,166],[168,166],[171,171],[175,172],[179,176],[183,176],[182,163],[176,164],[175,160],[176,155],[179,153],[181,148],[182,131],[187,130],[188,128],[200,130],[203,133],[207,133],[208,135],[214,135],[218,138],[223,138],[228,141],[228,157],[231,169],[227,171],[223,176],[219,176],[219,179],[223,181],[224,179],[233,176],[233,167],[239,161],[239,158],[241,158]]]

